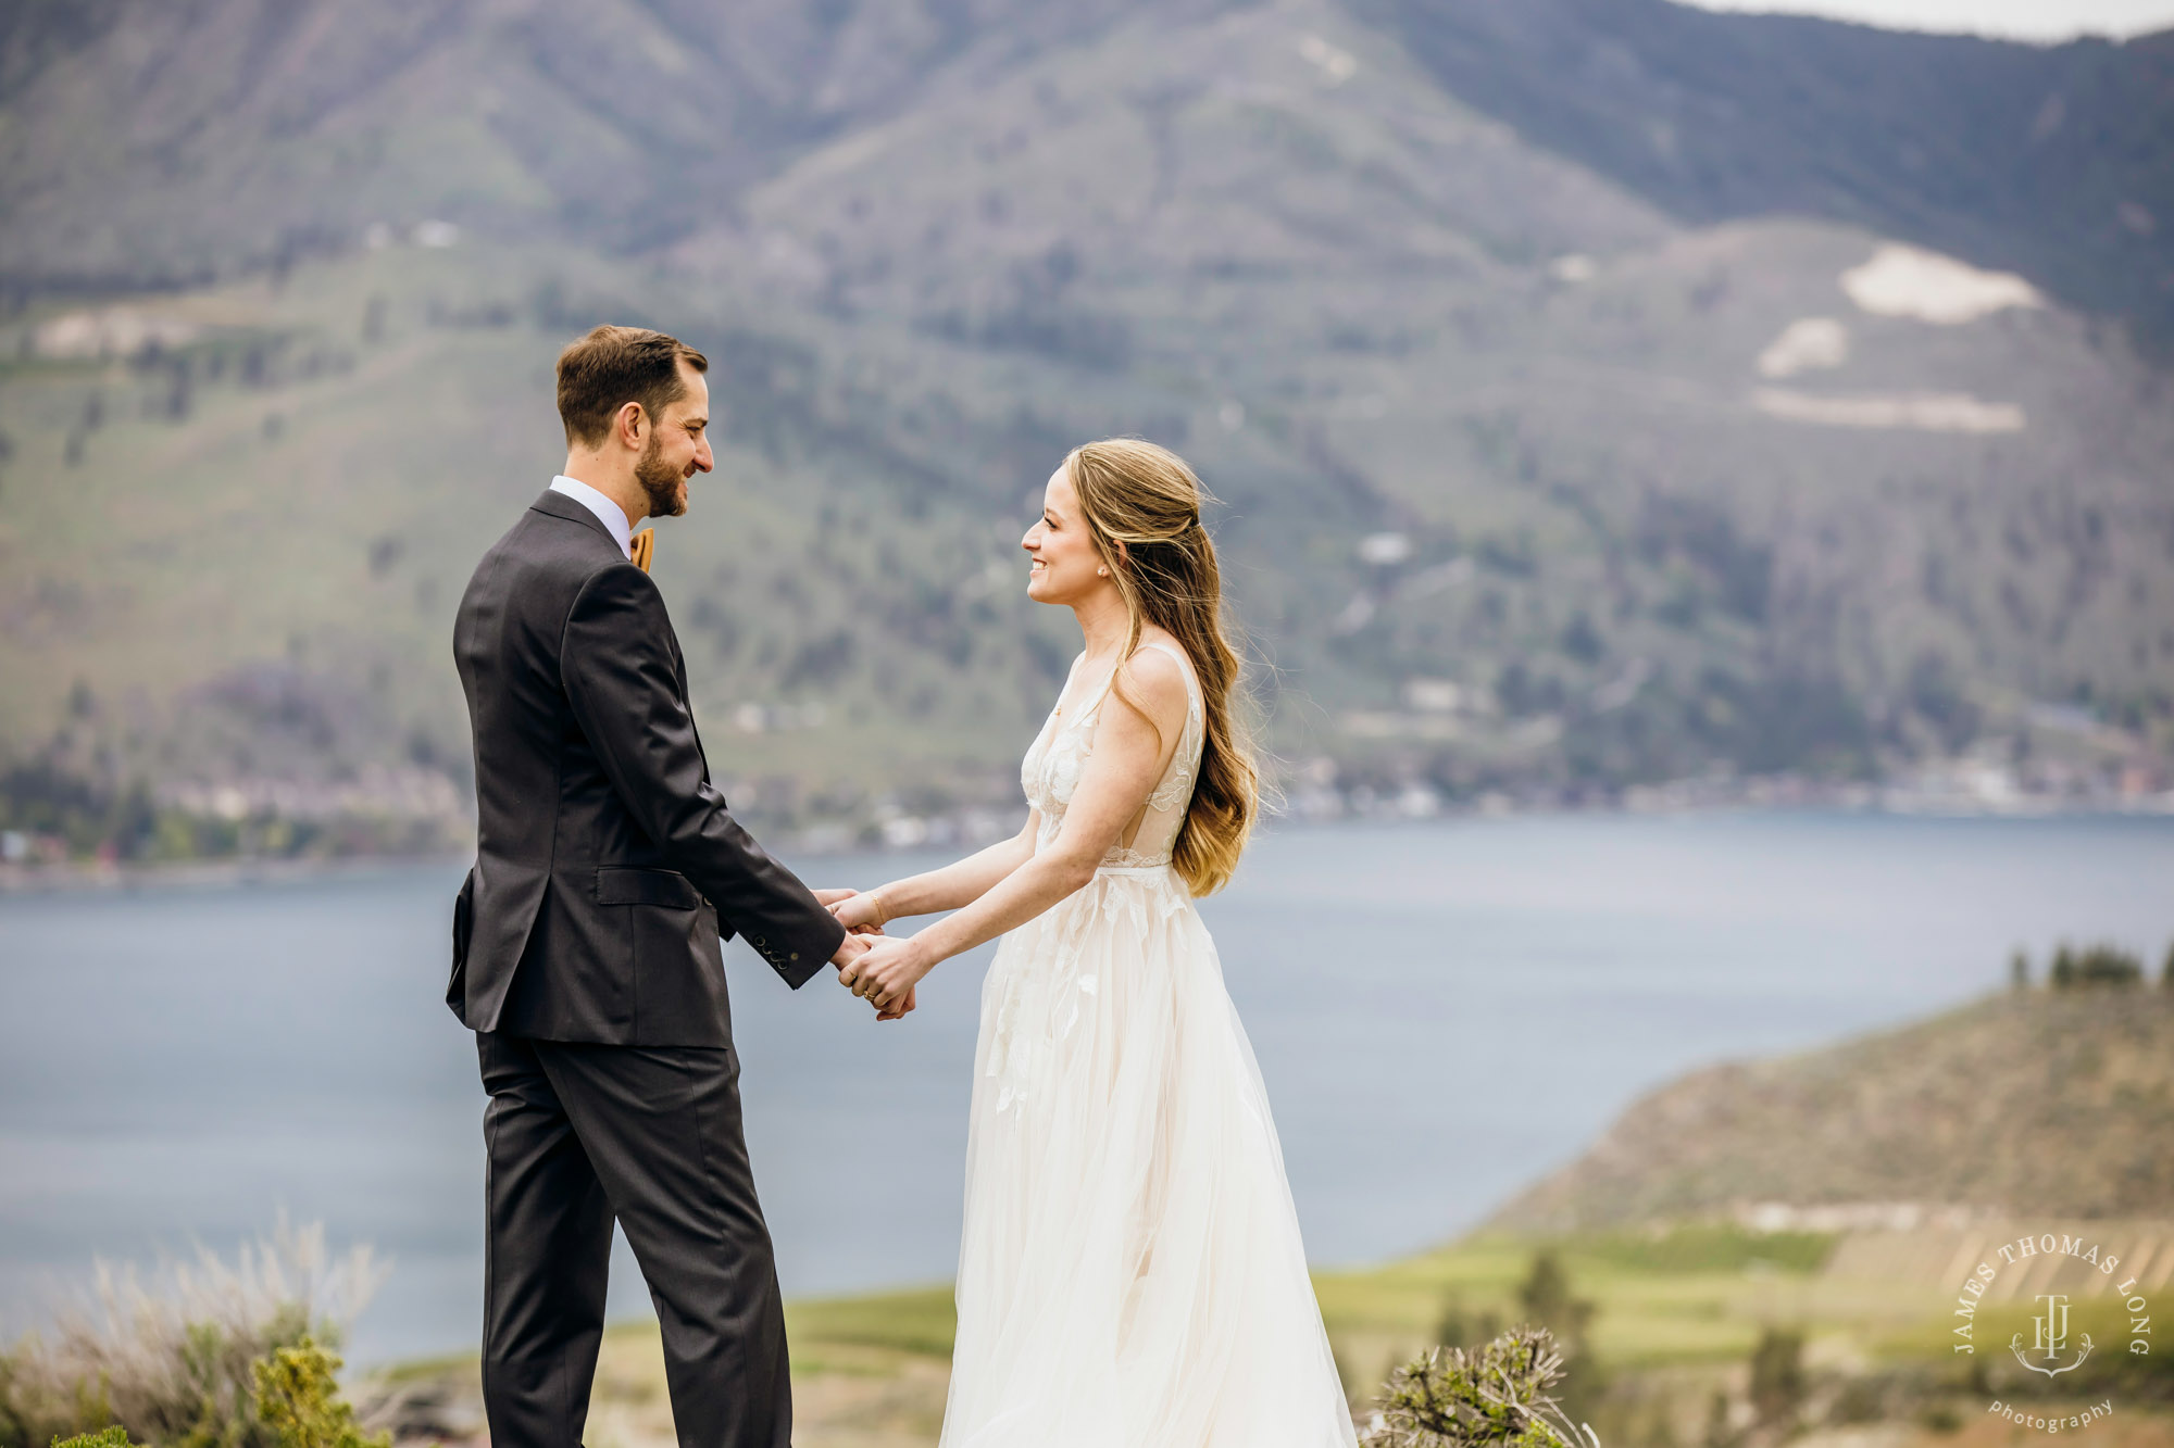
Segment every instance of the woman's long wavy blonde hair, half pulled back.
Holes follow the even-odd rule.
[[[1213,498],[1185,459],[1133,437],[1074,448],[1065,476],[1096,552],[1124,596],[1126,635],[1117,657],[1130,659],[1141,626],[1157,624],[1178,641],[1200,678],[1207,739],[1172,865],[1196,896],[1213,894],[1237,870],[1261,813],[1261,774],[1239,687],[1244,665],[1224,635],[1215,541],[1200,526],[1200,504]],[[1139,707],[1126,696],[1124,670],[1115,691]]]

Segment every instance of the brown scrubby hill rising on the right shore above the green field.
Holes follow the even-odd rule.
[[[1639,1098],[1494,1222],[1574,1231],[1904,1202],[2163,1218],[2174,989],[2015,991],[1826,1050],[1694,1072]]]

